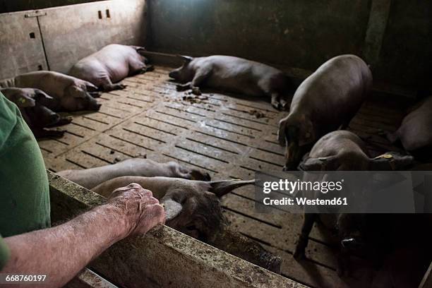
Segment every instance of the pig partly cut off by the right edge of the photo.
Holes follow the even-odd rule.
[[[414,155],[425,154],[432,146],[432,96],[421,102],[419,107],[404,117],[400,128],[395,133],[389,133],[388,139],[395,143],[400,140],[405,150]]]

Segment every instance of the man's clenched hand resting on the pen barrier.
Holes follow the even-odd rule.
[[[126,236],[145,234],[157,224],[165,223],[165,212],[152,192],[139,184],[129,184],[114,190],[108,199],[125,217]]]

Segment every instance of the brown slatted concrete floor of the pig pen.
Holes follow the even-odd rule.
[[[256,170],[282,169],[277,123],[287,113],[275,111],[267,101],[217,92],[184,99],[185,92],[176,92],[175,83],[169,82],[168,71],[159,66],[124,80],[128,88],[100,97],[100,112],[75,114],[73,122],[63,127],[63,138],[40,140],[47,168],[83,169],[146,155],[198,167],[212,179],[253,179]],[[257,111],[263,117],[257,117]],[[388,145],[377,136],[378,129],[395,130],[401,117],[394,102],[368,102],[351,126],[378,154]],[[356,260],[359,266],[353,277],[337,277],[332,241],[317,227],[311,233],[309,259],[297,263],[292,251],[302,215],[260,214],[253,193],[253,187],[244,187],[225,196],[225,213],[234,229],[283,258],[282,275],[312,287],[365,287],[371,271],[363,260]]]

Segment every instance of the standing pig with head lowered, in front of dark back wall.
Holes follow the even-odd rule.
[[[372,85],[372,73],[358,56],[340,55],[321,65],[294,93],[277,138],[286,145],[284,170],[296,169],[301,157],[330,131],[347,128]]]

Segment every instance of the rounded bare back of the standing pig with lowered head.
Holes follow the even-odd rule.
[[[330,59],[306,78],[296,90],[291,112],[306,114],[314,124],[337,129],[349,121],[366,100],[372,74],[358,56],[341,55]]]

